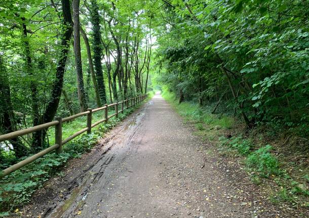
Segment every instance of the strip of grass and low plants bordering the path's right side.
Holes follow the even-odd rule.
[[[196,127],[197,135],[215,144],[207,149],[217,155],[239,158],[251,181],[267,190],[269,200],[290,202],[294,207],[309,207],[309,170],[307,159],[299,152],[281,153],[280,140],[269,139],[260,129],[248,131],[242,125],[241,117],[223,112],[211,114],[215,105],[201,107],[195,102],[179,103],[176,95],[168,89],[164,89],[163,97],[185,122]]]

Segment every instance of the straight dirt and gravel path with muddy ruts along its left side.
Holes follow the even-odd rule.
[[[47,217],[297,217],[268,204],[236,163],[204,152],[159,95],[114,131]]]

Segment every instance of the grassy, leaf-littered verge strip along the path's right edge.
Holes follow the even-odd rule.
[[[244,133],[240,132],[234,134],[235,136],[230,136],[229,133],[237,129],[236,118],[223,113],[211,114],[210,108],[200,107],[196,103],[179,103],[175,95],[168,91],[163,92],[162,96],[184,118],[185,122],[195,125],[196,135],[217,145],[216,150],[219,154],[242,158],[251,181],[257,185],[267,184],[269,186],[268,193],[271,201],[274,203],[287,201],[295,207],[309,207],[309,191],[306,185],[309,182],[308,174],[305,173],[299,178],[294,171],[302,171],[302,169],[297,168],[297,164],[293,168],[294,171],[288,172],[284,168],[286,164],[277,155],[279,152],[271,145],[263,145],[262,133],[244,137]],[[226,138],[225,135],[229,137]],[[259,143],[256,144],[256,141]],[[208,148],[207,153],[213,154],[215,151],[210,152]],[[289,176],[291,173],[292,175],[295,173],[293,178]]]

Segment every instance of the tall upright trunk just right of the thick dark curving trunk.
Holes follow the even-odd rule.
[[[80,38],[80,0],[72,1],[73,9],[73,30],[74,30],[74,56],[76,66],[76,76],[78,82],[78,95],[80,101],[81,112],[87,110],[87,97],[84,86],[83,66],[81,55],[81,38]]]

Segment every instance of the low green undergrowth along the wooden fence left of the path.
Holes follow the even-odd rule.
[[[61,154],[57,155],[55,152],[49,153],[4,177],[0,181],[0,217],[8,216],[13,211],[18,214],[18,206],[28,203],[35,190],[43,187],[44,182],[48,181],[49,178],[61,175],[61,167],[70,158],[78,158],[83,153],[89,152],[109,129],[117,125],[133,110],[134,108],[125,109],[124,113],[119,113],[119,118],[112,117],[107,123],[101,123],[94,127],[91,134],[82,134],[69,141],[63,146],[63,152]],[[109,111],[109,113],[112,114],[114,111]],[[93,114],[93,122],[102,118],[103,113]],[[63,139],[74,134],[77,129],[83,128],[82,126],[86,125],[86,120],[86,117],[79,117],[72,122],[63,123]],[[53,129],[50,129],[48,138],[49,144],[51,145],[54,144],[53,134]],[[27,157],[22,159],[25,158]],[[0,168],[4,169],[9,164],[10,161],[4,161],[4,164],[0,165]]]

